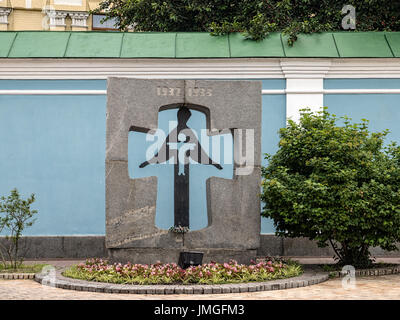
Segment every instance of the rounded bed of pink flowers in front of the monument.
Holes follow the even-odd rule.
[[[250,265],[211,262],[187,269],[175,263],[167,264],[108,264],[106,260],[89,259],[73,266],[63,275],[70,278],[118,284],[222,284],[268,281],[295,277],[302,273],[295,262],[274,260]]]

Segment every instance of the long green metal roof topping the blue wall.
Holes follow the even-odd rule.
[[[238,33],[206,32],[0,32],[0,58],[393,58],[400,57],[400,32],[325,32],[263,41]]]

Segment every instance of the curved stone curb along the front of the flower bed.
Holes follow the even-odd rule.
[[[35,281],[56,288],[103,292],[103,293],[130,293],[130,294],[221,294],[241,293],[269,290],[283,290],[290,288],[306,287],[321,283],[329,279],[328,273],[305,272],[301,276],[272,280],[267,282],[250,282],[240,284],[221,285],[128,285],[110,284],[103,282],[84,281],[62,276],[62,271],[57,271],[55,277],[38,273]]]

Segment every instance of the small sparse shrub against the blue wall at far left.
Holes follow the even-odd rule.
[[[33,202],[34,194],[24,200],[17,189],[11,190],[8,197],[0,197],[0,232],[6,232],[4,244],[0,242],[4,268],[18,269],[22,265],[24,253],[21,253],[23,248],[20,240],[22,232],[35,222],[34,215],[37,210],[31,210]]]

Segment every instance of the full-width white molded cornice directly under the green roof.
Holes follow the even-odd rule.
[[[0,59],[0,79],[400,78],[390,59]],[[1,89],[1,88],[0,88]]]

